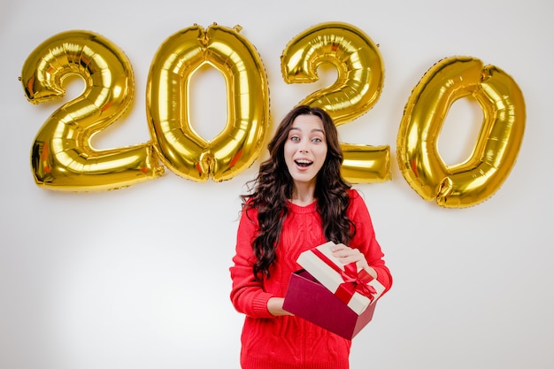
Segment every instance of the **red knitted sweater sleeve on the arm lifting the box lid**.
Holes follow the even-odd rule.
[[[356,234],[350,242],[350,247],[360,250],[365,255],[367,264],[375,269],[377,281],[385,287],[384,295],[392,287],[392,275],[389,267],[385,265],[384,254],[375,237],[373,222],[365,201],[355,189],[350,190],[349,216],[356,225]]]

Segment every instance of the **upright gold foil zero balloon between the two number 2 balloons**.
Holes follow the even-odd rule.
[[[225,181],[258,158],[270,124],[265,68],[240,26],[194,25],[158,49],[147,81],[150,133],[164,164],[193,181]],[[212,65],[227,84],[227,122],[211,142],[189,121],[190,79]]]

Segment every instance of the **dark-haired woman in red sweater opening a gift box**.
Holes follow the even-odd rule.
[[[344,369],[350,340],[284,311],[301,252],[333,241],[334,256],[392,285],[365,202],[342,179],[342,150],[326,111],[297,106],[269,143],[250,195],[242,196],[231,301],[246,315],[243,369]]]

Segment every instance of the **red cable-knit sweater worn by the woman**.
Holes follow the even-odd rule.
[[[375,239],[373,224],[358,191],[350,189],[348,217],[356,224],[356,235],[350,242],[365,254],[370,266],[377,271],[377,280],[392,285],[389,268],[383,261],[381,246]],[[231,266],[233,288],[231,301],[235,309],[246,315],[242,327],[241,365],[243,369],[347,369],[350,340],[294,316],[275,317],[267,311],[270,297],[283,297],[290,274],[301,266],[296,258],[301,252],[327,242],[316,211],[316,203],[298,206],[289,203],[277,261],[271,277],[254,281],[252,265],[253,237],[258,228],[258,211],[242,212],[237,231],[236,255]]]

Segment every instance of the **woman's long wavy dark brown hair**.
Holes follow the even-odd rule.
[[[281,236],[283,220],[288,214],[287,204],[294,189],[285,163],[284,146],[294,120],[303,114],[315,115],[321,119],[327,141],[327,158],[317,174],[314,194],[327,241],[348,244],[356,232],[354,223],[346,216],[350,183],[341,175],[343,158],[335,122],[323,109],[298,105],[281,120],[267,146],[270,158],[260,165],[258,176],[247,183],[250,195],[241,196],[243,211],[258,209],[258,234],[252,244],[256,256],[253,273],[257,280],[261,280],[263,276],[269,278],[270,267],[276,259],[275,250]]]

